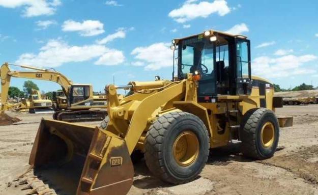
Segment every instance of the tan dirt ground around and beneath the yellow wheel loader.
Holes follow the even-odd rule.
[[[41,118],[51,115],[12,114],[22,121],[0,126],[0,194],[27,194],[12,183],[28,168],[28,156]],[[292,115],[294,126],[281,128],[274,157],[253,161],[236,150],[213,150],[200,177],[183,185],[169,185],[154,178],[144,161],[135,164],[129,194],[317,194],[318,105],[285,106],[279,115]],[[85,123],[98,125],[99,122]],[[64,192],[58,194],[65,194]]]

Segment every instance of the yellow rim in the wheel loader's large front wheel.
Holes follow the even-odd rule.
[[[183,131],[172,146],[175,160],[181,166],[189,166],[198,157],[199,141],[192,131]]]

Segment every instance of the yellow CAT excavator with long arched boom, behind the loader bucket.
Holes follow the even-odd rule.
[[[9,65],[35,71],[11,71]],[[93,95],[92,85],[75,84],[65,75],[53,69],[41,69],[5,63],[1,66],[0,76],[2,112],[7,110],[7,98],[11,77],[17,77],[48,80],[56,82],[62,87],[67,99],[57,97],[56,101],[53,102],[57,110],[53,114],[53,119],[55,120],[68,122],[94,121],[103,120],[107,115],[106,95],[96,97]]]

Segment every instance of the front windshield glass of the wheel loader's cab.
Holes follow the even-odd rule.
[[[201,96],[215,94],[214,58],[214,45],[208,39],[195,37],[179,43],[179,76],[185,78],[187,73],[198,71]]]

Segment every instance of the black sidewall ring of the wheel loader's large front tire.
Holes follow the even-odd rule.
[[[167,172],[173,175],[177,180],[186,181],[191,180],[193,177],[201,172],[201,169],[206,163],[206,153],[209,150],[209,140],[205,131],[206,127],[204,123],[195,119],[195,116],[185,115],[178,118],[174,123],[171,124],[170,128],[165,134],[165,141],[163,144],[163,160]],[[173,154],[172,147],[178,135],[183,131],[193,132],[199,142],[199,154],[194,163],[189,166],[179,165]]]

